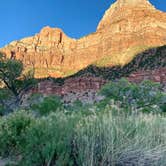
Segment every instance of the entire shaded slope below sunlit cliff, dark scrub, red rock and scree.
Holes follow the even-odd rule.
[[[25,93],[24,98],[41,93],[61,96],[66,104],[75,100],[98,102],[101,96],[97,92],[101,87],[110,80],[117,81],[122,77],[135,83],[152,80],[161,83],[163,90],[166,90],[166,46],[146,50],[123,67],[89,66],[67,78],[41,79],[37,86]]]

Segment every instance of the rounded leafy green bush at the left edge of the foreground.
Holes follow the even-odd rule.
[[[0,118],[0,155],[19,152],[25,143],[25,132],[33,121],[33,116],[25,111]]]

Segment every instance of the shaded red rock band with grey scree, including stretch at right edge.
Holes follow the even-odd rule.
[[[130,74],[127,79],[130,82],[140,83],[143,80],[152,80],[154,82],[166,85],[166,68],[155,70],[139,70]],[[80,100],[83,103],[98,102],[102,99],[97,92],[106,84],[108,80],[101,77],[83,76],[67,79],[63,85],[58,85],[52,80],[43,80],[38,85],[24,94],[23,101],[33,93],[44,95],[61,96],[65,104]]]

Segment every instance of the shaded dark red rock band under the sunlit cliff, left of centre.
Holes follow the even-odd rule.
[[[79,93],[87,90],[97,91],[107,83],[106,80],[100,77],[77,77],[65,80],[63,85],[58,85],[51,80],[44,80],[39,82],[38,86],[31,89],[34,92],[42,94],[57,94],[67,95],[68,93]]]

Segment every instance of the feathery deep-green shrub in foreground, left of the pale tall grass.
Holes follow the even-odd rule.
[[[33,123],[26,135],[21,165],[73,165],[74,129],[79,116],[51,113]]]

